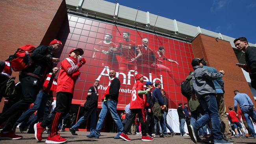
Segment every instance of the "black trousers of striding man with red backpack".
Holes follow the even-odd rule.
[[[37,97],[37,94],[42,87],[43,83],[36,78],[21,74],[19,76],[22,85],[22,98],[19,102],[12,105],[0,116],[0,124],[7,120],[3,131],[11,131],[15,122],[19,119],[20,115],[28,109]]]

